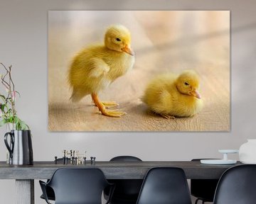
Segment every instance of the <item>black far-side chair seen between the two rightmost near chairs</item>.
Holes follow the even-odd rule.
[[[192,159],[192,162],[199,162],[201,159]],[[195,204],[199,200],[202,203],[213,202],[214,193],[218,184],[218,179],[191,179],[191,195],[196,197]]]

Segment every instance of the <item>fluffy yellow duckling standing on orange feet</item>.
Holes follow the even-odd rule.
[[[97,95],[117,77],[132,69],[134,52],[130,43],[129,30],[122,25],[114,25],[107,29],[104,45],[92,45],[78,52],[69,69],[68,81],[73,89],[71,100],[77,102],[90,94],[102,115],[121,117],[126,114],[107,110],[118,104],[114,101],[102,102]]]

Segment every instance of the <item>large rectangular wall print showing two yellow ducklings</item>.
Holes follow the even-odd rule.
[[[229,131],[230,11],[48,11],[48,130]]]

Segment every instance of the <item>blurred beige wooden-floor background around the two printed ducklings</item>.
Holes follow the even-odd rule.
[[[49,11],[48,129],[50,131],[229,131],[229,11]],[[70,60],[82,47],[102,42],[105,28],[122,23],[132,33],[134,69],[100,93],[117,101],[122,118],[101,115],[90,96],[69,101]],[[191,118],[167,120],[140,98],[156,74],[196,69],[204,107]]]

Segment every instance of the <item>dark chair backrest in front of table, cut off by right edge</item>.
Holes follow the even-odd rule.
[[[255,204],[256,203],[256,165],[234,166],[220,177],[215,204]]]

